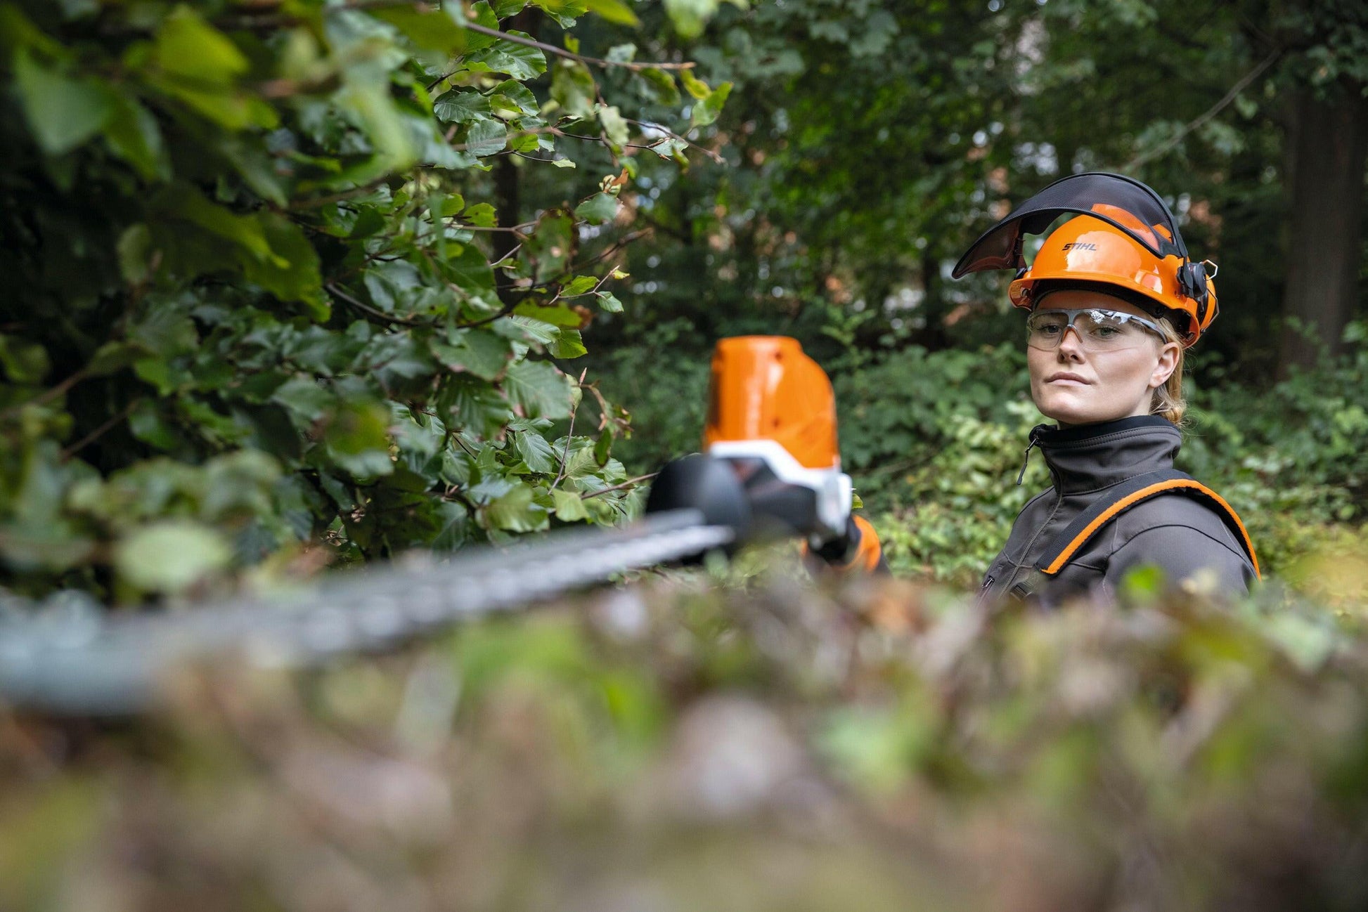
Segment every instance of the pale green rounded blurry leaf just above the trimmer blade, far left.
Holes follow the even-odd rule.
[[[223,536],[185,520],[144,526],[114,551],[120,581],[141,592],[183,592],[231,561],[233,548]]]

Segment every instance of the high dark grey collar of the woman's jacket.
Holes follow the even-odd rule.
[[[1171,469],[1183,436],[1167,418],[1142,414],[1116,421],[1030,432],[1062,495],[1107,488],[1145,472]]]

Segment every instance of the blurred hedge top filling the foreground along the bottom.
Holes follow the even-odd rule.
[[[0,905],[1368,900],[1361,602],[992,613],[791,567],[186,677],[137,723],[0,715]]]

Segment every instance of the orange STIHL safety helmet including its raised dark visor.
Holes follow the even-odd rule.
[[[1022,235],[1044,234],[1068,213],[1075,217],[1051,232],[1027,267]],[[1096,289],[1172,319],[1190,346],[1216,319],[1208,264],[1192,261],[1157,193],[1133,178],[1097,171],[1062,178],[1026,200],[964,252],[951,276],[1016,269],[1008,297],[1026,309],[1049,290]]]

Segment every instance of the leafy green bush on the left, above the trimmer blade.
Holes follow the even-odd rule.
[[[621,310],[622,187],[687,163],[670,124],[726,86],[517,27],[587,8],[635,22],[0,5],[0,582],[130,600],[624,515],[622,412],[569,362]],[[586,186],[518,209],[576,159]]]

